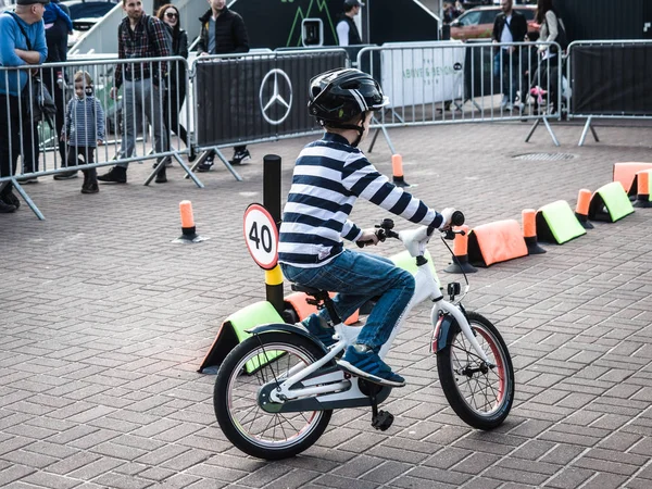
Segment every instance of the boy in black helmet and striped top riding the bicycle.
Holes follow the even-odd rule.
[[[378,352],[404,314],[414,293],[414,277],[390,260],[343,248],[342,238],[376,244],[374,229],[349,221],[358,197],[415,224],[446,229],[453,209],[441,214],[396,187],[378,173],[358,146],[367,136],[373,112],[387,105],[380,86],[358,70],[331,70],[311,79],[309,112],[324,127],[324,137],[308,145],[297,159],[284,208],[278,259],[284,275],[303,286],[338,292],[335,308],[349,317],[379,297],[355,344],[338,365],[369,381],[402,387]],[[326,347],[335,330],[324,309],[303,326]]]

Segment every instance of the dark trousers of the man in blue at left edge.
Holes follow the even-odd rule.
[[[38,127],[29,117],[25,99],[0,95],[0,176],[15,175],[18,155],[23,166],[38,171]],[[2,189],[7,195],[12,189],[9,183]]]

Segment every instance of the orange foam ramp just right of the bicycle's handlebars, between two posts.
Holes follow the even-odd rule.
[[[482,224],[474,227],[468,235],[468,258],[474,264],[489,266],[527,254],[527,246],[516,220]]]

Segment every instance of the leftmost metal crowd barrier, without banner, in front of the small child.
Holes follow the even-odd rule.
[[[167,76],[163,75],[162,63],[167,64]],[[131,73],[147,66],[150,68],[152,78],[142,80],[139,84],[143,89],[131,90],[127,89],[127,85],[130,84],[123,76],[125,82],[123,82],[120,90],[121,97],[118,100],[113,100],[110,92],[114,86],[114,73],[117,64],[123,66],[123,74],[126,73],[125,67],[127,65]],[[87,150],[80,150],[82,160],[76,159],[77,165],[68,167],[70,153],[74,152],[76,154],[78,151],[77,148],[65,142],[68,138],[65,114],[68,103],[76,97],[74,76],[79,71],[87,72],[93,82],[92,87],[88,87],[86,82],[83,82],[82,90],[85,92],[86,89],[91,89],[92,95],[104,111],[104,120],[100,121],[93,109],[92,113],[97,120],[95,122],[90,121],[90,125],[95,127],[95,139],[101,139],[102,125],[105,128],[105,138],[102,146],[98,146],[95,150],[95,162],[89,162],[90,154]],[[0,82],[8,86],[12,77],[17,76],[20,73],[27,77],[23,97],[3,99],[7,109],[4,112],[9,113],[9,100],[17,100],[20,111],[17,117],[8,117],[8,121],[5,121],[7,134],[2,134],[0,137],[8,138],[10,134],[20,134],[20,148],[13,148],[11,140],[9,145],[10,151],[17,150],[21,156],[15,171],[14,168],[5,168],[0,174],[0,186],[3,187],[8,181],[12,181],[16,191],[40,220],[45,217],[25,191],[24,184],[49,175],[147,160],[165,162],[174,159],[198,187],[203,187],[181,159],[181,155],[189,152],[191,145],[189,139],[187,139],[188,145],[181,140],[183,121],[189,120],[189,105],[184,104],[183,100],[184,87],[189,87],[189,70],[185,59],[178,57],[138,60],[92,59],[30,67],[0,67]],[[38,124],[33,124],[30,120],[26,120],[28,116],[26,110],[23,110],[30,106],[34,97],[38,95],[29,88],[32,87],[32,78],[35,76],[47,86],[57,104],[57,112],[51,120]],[[174,89],[168,89],[165,92],[159,90],[158,96],[154,96],[154,91],[149,90],[151,82],[163,79],[164,84],[170,85],[168,80],[172,76],[178,80]],[[136,84],[130,86],[136,87]],[[135,108],[138,108],[138,110]],[[179,116],[175,117],[175,113]],[[88,121],[83,122],[84,124],[88,123]],[[125,129],[134,133],[134,140],[136,141],[128,154],[127,148],[123,151],[121,145]],[[154,138],[150,137],[150,133],[160,135],[159,143],[154,143]],[[71,160],[74,161],[75,159],[71,158]],[[7,166],[11,165],[8,164]],[[159,167],[154,168],[146,179],[145,185],[149,185],[159,171]]]

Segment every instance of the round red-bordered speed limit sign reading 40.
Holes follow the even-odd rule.
[[[251,258],[261,268],[272,269],[278,261],[278,229],[261,204],[250,204],[244,211],[244,242]]]

